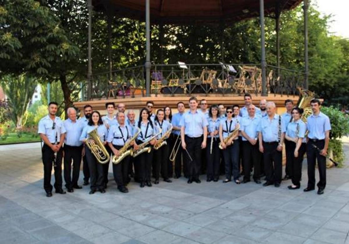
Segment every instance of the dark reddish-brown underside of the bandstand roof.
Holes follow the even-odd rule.
[[[292,9],[303,0],[264,0],[266,15]],[[144,21],[145,0],[92,0],[95,10]],[[259,16],[259,0],[150,0],[150,21],[164,24],[226,23]]]

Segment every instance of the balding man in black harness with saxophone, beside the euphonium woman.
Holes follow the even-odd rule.
[[[108,145],[113,151],[114,155],[120,156],[119,150],[125,145],[125,142],[132,137],[132,129],[125,124],[125,114],[117,113],[118,124],[112,125],[108,131]],[[128,189],[128,162],[129,156],[126,156],[120,163],[113,163],[113,175],[118,190],[127,193]]]

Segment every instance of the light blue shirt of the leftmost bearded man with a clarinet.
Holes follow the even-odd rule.
[[[54,129],[52,129],[53,123]],[[46,135],[47,139],[49,139],[52,144],[56,142],[56,135],[57,143],[59,143],[61,134],[65,132],[66,130],[60,117],[55,116],[54,120],[52,120],[49,115],[46,115],[39,121],[38,134]]]

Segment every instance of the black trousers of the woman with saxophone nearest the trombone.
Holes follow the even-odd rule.
[[[169,145],[163,145],[160,147],[158,150],[154,150],[154,160],[155,162],[155,175],[154,178],[155,180],[159,180],[160,177],[160,172],[161,176],[164,178],[164,180],[167,180],[169,178],[169,171],[168,171],[168,161],[166,159],[169,158]]]

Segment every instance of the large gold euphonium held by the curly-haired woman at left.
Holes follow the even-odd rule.
[[[107,163],[110,160],[110,155],[108,154],[103,142],[98,136],[97,128],[89,132],[89,138],[86,140],[86,145],[90,148],[92,154],[96,157],[99,163]],[[93,141],[90,142],[89,139]]]

